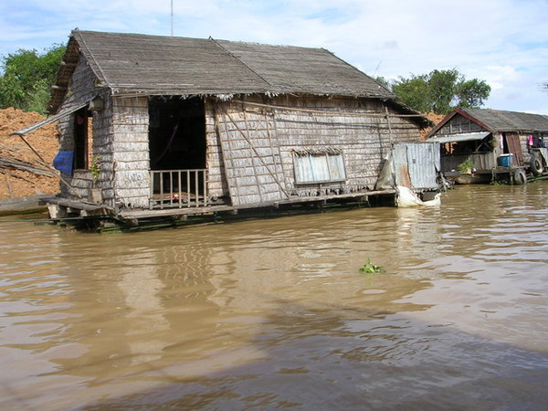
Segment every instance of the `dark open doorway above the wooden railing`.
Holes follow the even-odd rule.
[[[205,109],[200,98],[149,100],[152,170],[205,168]]]

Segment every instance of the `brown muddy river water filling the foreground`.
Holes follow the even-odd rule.
[[[0,408],[546,409],[548,182],[442,201],[112,235],[2,217]]]

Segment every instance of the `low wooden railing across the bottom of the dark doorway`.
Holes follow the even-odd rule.
[[[151,170],[150,209],[207,205],[207,171]]]

